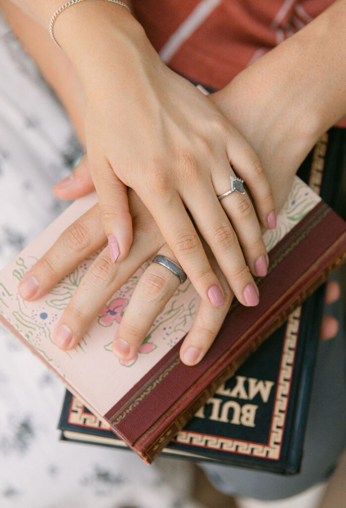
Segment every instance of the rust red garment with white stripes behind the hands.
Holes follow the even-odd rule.
[[[332,0],[132,0],[173,70],[214,89],[323,12]],[[338,125],[346,126],[344,118]]]

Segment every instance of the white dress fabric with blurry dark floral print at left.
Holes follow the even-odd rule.
[[[54,94],[0,17],[0,268],[68,205],[52,186],[82,153]],[[198,508],[187,462],[60,441],[65,387],[0,328],[1,508]]]

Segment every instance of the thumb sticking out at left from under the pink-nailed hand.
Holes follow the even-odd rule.
[[[77,199],[95,190],[90,176],[90,168],[87,155],[83,155],[73,172],[63,180],[56,183],[53,193],[60,199]]]

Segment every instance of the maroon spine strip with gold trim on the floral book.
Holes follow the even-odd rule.
[[[150,463],[345,257],[345,223],[321,202],[270,252],[268,274],[256,281],[259,304],[245,307],[236,302],[198,365],[180,362],[179,342],[104,418]]]

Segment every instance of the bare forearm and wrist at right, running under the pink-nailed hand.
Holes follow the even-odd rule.
[[[258,154],[278,209],[281,189],[346,113],[345,40],[346,2],[340,0],[211,96]]]

